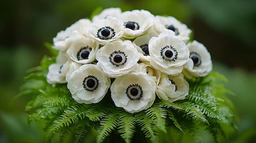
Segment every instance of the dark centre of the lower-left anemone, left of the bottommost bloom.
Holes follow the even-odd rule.
[[[84,90],[93,92],[98,88],[98,85],[99,85],[99,80],[95,76],[89,75],[84,78],[84,81],[83,81]]]

